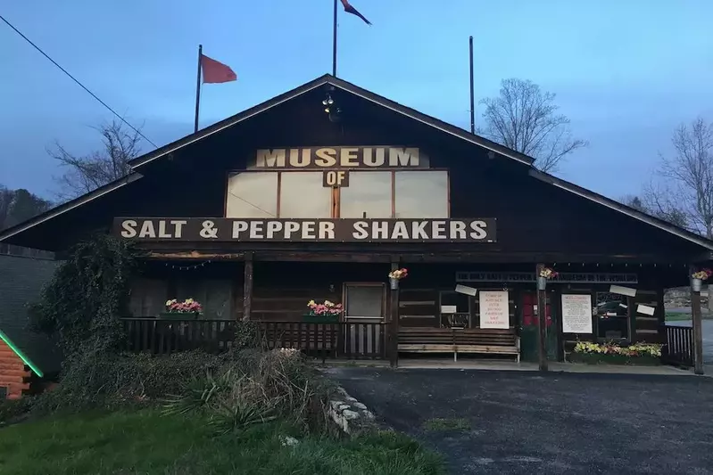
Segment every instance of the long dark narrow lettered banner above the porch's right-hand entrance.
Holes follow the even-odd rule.
[[[535,283],[535,272],[457,272],[455,282]],[[636,274],[560,272],[551,283],[638,283]]]

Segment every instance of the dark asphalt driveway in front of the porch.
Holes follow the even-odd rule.
[[[441,452],[454,474],[713,473],[711,378],[383,368],[329,373],[381,422]],[[428,429],[435,418],[461,428]]]

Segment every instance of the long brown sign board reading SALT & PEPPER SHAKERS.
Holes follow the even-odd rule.
[[[212,242],[495,242],[494,218],[234,219],[117,217],[124,239]]]

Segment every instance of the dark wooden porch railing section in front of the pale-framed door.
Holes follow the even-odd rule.
[[[267,348],[295,348],[307,355],[385,359],[386,323],[261,322]]]

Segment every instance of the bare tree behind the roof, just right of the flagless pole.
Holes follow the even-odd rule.
[[[500,95],[486,98],[485,128],[487,138],[535,159],[543,172],[555,171],[560,161],[584,140],[572,138],[567,116],[558,114],[555,94],[543,92],[529,80],[503,79]]]

